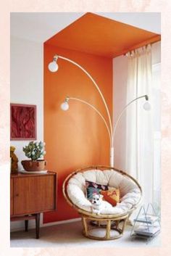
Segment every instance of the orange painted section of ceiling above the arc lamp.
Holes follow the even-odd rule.
[[[86,13],[46,41],[46,44],[104,57],[117,57],[159,40],[160,35],[156,33]]]

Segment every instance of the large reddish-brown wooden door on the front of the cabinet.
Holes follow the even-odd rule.
[[[14,215],[54,209],[54,175],[14,178]]]

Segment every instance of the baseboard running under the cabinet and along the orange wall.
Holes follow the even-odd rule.
[[[79,221],[81,218],[74,218],[70,220],[59,220],[55,222],[49,222],[49,223],[43,223],[43,214],[41,214],[41,220],[40,220],[40,227],[47,227],[47,226],[55,226],[55,225],[60,225],[60,224],[66,224],[66,223],[72,223],[75,221]],[[28,224],[29,229],[35,228],[35,220],[29,220]],[[12,221],[10,225],[10,231],[15,232],[15,231],[22,231],[25,229],[25,221]]]

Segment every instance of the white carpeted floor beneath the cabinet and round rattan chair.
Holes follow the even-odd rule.
[[[159,234],[146,243],[146,239],[131,239],[130,228],[126,228],[120,239],[97,241],[82,234],[80,221],[48,226],[40,229],[40,239],[35,239],[35,230],[11,233],[11,247],[159,247]]]

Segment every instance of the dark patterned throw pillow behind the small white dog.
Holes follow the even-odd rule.
[[[92,181],[86,181],[86,191],[87,191],[87,198],[91,200],[93,198],[93,194],[100,194],[100,191],[108,190],[107,185],[98,184]]]

